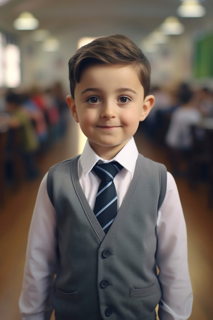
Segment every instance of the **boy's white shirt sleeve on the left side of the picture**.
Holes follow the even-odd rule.
[[[43,177],[31,221],[19,309],[23,320],[50,320],[56,269],[56,215]]]

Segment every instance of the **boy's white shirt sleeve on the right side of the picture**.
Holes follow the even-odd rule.
[[[187,262],[187,236],[177,186],[168,173],[167,192],[157,219],[157,265],[162,298],[160,320],[190,317],[193,293]]]

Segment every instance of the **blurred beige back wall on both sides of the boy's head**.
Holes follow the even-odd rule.
[[[42,43],[34,42],[30,32],[21,38],[22,86],[36,84],[47,87],[57,80],[69,94],[67,64],[77,49],[78,38],[69,31],[58,33],[57,37],[60,41],[57,52],[44,52]],[[160,44],[156,53],[147,53],[152,67],[152,83],[166,87],[182,81],[197,83],[192,73],[193,50],[193,38],[185,34],[170,37],[170,42]],[[205,84],[206,81],[209,79],[204,81]]]

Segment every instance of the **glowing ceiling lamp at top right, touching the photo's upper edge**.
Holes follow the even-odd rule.
[[[199,4],[197,0],[185,0],[177,9],[178,15],[181,17],[203,17],[205,8]]]

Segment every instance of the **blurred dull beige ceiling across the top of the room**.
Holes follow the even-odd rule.
[[[100,36],[122,33],[141,40],[162,21],[177,16],[180,0],[12,0],[0,6],[0,30],[13,33],[13,21],[22,11],[30,11],[39,20],[39,29],[53,35],[72,32],[77,36]],[[206,15],[180,18],[189,35],[213,30],[213,0],[203,0]]]

